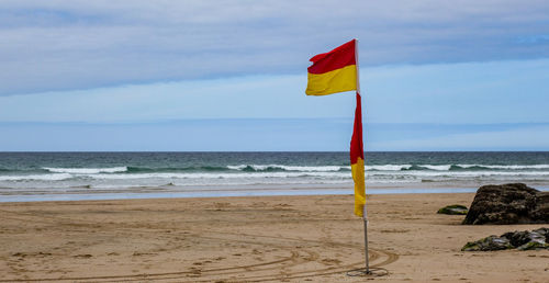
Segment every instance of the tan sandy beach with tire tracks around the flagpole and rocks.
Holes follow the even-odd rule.
[[[473,194],[369,195],[377,281],[548,282],[549,250],[462,252],[542,225],[462,226]],[[351,195],[0,204],[0,282],[359,282]],[[548,225],[546,225],[548,226]]]

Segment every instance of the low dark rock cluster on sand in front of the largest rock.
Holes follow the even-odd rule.
[[[462,251],[490,251],[490,250],[538,250],[549,249],[549,228],[539,228],[533,231],[509,231],[497,237],[495,235],[470,241]]]

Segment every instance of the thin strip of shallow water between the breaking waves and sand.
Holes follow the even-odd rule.
[[[494,182],[500,184],[505,182]],[[488,184],[488,183],[486,183]],[[492,184],[492,183],[491,183]],[[474,193],[484,184],[472,183],[393,183],[367,184],[367,194],[428,194],[428,193]],[[549,183],[528,183],[539,191],[549,191]],[[0,194],[0,203],[55,202],[55,201],[115,201],[149,199],[194,199],[194,197],[239,197],[239,196],[298,196],[298,195],[350,195],[352,184],[257,184],[257,185],[210,185],[197,186],[141,186],[122,189],[75,189],[74,191],[52,191],[40,189],[14,191]]]

